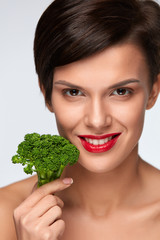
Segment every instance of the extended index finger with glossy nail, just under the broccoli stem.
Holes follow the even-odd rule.
[[[44,184],[35,190],[24,202],[21,204],[22,208],[32,208],[37,204],[42,198],[48,194],[54,194],[55,192],[62,191],[65,188],[71,186],[73,183],[72,178],[57,179],[53,182]]]

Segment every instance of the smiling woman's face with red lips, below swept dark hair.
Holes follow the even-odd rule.
[[[149,86],[145,58],[131,44],[55,69],[50,110],[84,168],[108,172],[137,157]]]

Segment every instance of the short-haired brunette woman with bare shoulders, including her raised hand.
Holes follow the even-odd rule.
[[[138,155],[160,89],[159,39],[154,1],[56,0],[44,12],[39,84],[80,157],[39,189],[33,176],[1,190],[2,239],[160,239],[160,173]]]

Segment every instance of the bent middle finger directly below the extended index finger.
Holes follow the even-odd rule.
[[[45,196],[43,199],[41,199],[34,206],[34,208],[32,208],[32,210],[30,211],[30,215],[32,216],[32,218],[41,217],[50,208],[53,208],[54,206],[59,206],[60,208],[63,208],[64,203],[59,197],[49,194]]]

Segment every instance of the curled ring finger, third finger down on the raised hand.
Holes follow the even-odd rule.
[[[62,209],[59,206],[50,208],[43,216],[40,217],[42,226],[49,226],[62,217]]]

